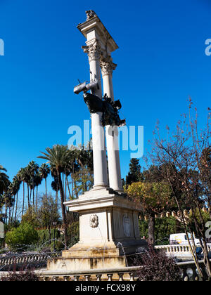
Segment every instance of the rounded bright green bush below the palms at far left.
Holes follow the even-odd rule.
[[[27,246],[38,241],[37,230],[34,230],[33,225],[22,223],[18,228],[14,228],[6,234],[6,244],[15,249],[16,247]]]

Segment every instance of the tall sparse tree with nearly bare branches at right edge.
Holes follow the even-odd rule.
[[[156,125],[151,141],[152,150],[149,154],[153,164],[162,167],[162,175],[170,183],[174,194],[178,215],[183,223],[188,237],[193,259],[200,270],[196,255],[196,244],[193,239],[194,224],[196,235],[203,249],[204,264],[211,280],[211,266],[206,244],[206,221],[203,210],[211,208],[211,145],[210,145],[210,108],[208,108],[205,127],[198,129],[198,111],[193,109],[191,98],[188,102],[188,114],[181,116],[176,131],[171,132],[167,126],[167,136],[160,135],[160,124]],[[192,222],[186,216],[186,210],[191,210]]]

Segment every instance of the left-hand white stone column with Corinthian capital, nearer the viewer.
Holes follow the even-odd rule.
[[[89,55],[90,80],[98,80],[99,89],[92,91],[92,94],[101,98],[101,47],[98,42],[95,41],[94,44],[89,45],[84,52]],[[108,187],[105,131],[101,123],[101,118],[102,112],[91,114],[95,189]]]

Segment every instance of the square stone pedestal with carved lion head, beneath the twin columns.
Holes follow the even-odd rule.
[[[79,213],[79,242],[49,260],[48,270],[122,268],[146,250],[139,236],[140,205],[125,195],[94,189],[65,205]]]

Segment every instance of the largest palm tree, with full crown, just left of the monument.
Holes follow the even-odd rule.
[[[68,239],[68,228],[67,219],[65,214],[65,195],[63,190],[63,183],[61,178],[61,172],[64,171],[66,164],[71,159],[70,150],[66,145],[54,145],[52,148],[47,147],[46,152],[41,152],[43,156],[39,156],[40,159],[46,159],[47,164],[51,165],[51,168],[56,169],[56,174],[58,177],[58,188],[60,190],[60,202],[62,209],[63,225],[64,225],[64,236],[65,236],[65,249],[67,249],[67,239]]]

